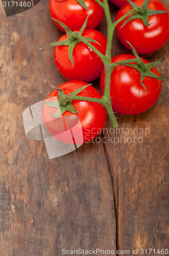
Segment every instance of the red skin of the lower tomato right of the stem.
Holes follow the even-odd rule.
[[[135,56],[122,54],[111,59],[112,62],[133,59]],[[149,61],[142,58],[144,63]],[[151,71],[160,76],[157,69]],[[103,70],[100,79],[100,88],[104,93],[105,72]],[[120,65],[115,67],[111,74],[110,97],[112,109],[118,113],[136,115],[151,108],[158,99],[161,92],[161,80],[145,77],[143,80],[147,92],[140,83],[140,74],[131,67]]]

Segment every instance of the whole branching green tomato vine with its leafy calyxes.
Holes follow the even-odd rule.
[[[63,1],[63,0],[59,0],[59,1]],[[101,58],[101,60],[104,64],[104,70],[105,70],[105,87],[104,87],[104,94],[103,94],[102,98],[98,99],[98,98],[91,98],[91,97],[85,97],[85,96],[78,96],[78,95],[76,95],[77,93],[71,93],[71,94],[65,95],[60,92],[59,104],[60,104],[60,106],[62,106],[61,109],[63,109],[63,111],[61,111],[61,115],[65,111],[71,112],[71,109],[72,109],[71,101],[72,100],[83,100],[83,101],[97,102],[104,106],[104,108],[107,111],[107,114],[109,116],[112,126],[114,127],[114,129],[117,129],[118,123],[117,123],[116,117],[114,115],[114,112],[112,110],[111,98],[110,98],[110,78],[111,78],[111,73],[114,70],[114,68],[119,65],[126,65],[126,66],[130,66],[130,67],[136,69],[140,73],[140,82],[141,82],[142,86],[145,88],[145,93],[146,93],[146,87],[143,82],[145,76],[153,77],[156,79],[164,78],[164,77],[157,76],[151,72],[151,69],[155,65],[158,65],[159,63],[161,63],[164,60],[164,58],[159,61],[156,61],[156,62],[144,64],[142,59],[138,56],[137,52],[135,51],[134,47],[132,47],[132,45],[129,42],[128,42],[128,44],[131,46],[135,58],[111,63],[112,36],[113,36],[116,26],[120,22],[122,22],[123,19],[125,19],[126,17],[128,17],[131,14],[131,16],[126,20],[126,22],[123,24],[123,26],[125,26],[125,24],[128,23],[133,18],[140,18],[143,20],[143,23],[145,24],[145,26],[149,26],[149,22],[148,22],[149,16],[166,12],[166,11],[160,11],[160,10],[149,10],[148,9],[149,0],[145,0],[142,7],[136,6],[135,4],[133,4],[131,2],[131,0],[127,0],[127,1],[133,8],[128,13],[126,13],[125,15],[120,17],[118,20],[116,20],[116,22],[112,23],[108,1],[103,0],[103,2],[101,2],[100,0],[95,0],[95,2],[97,2],[103,8],[105,16],[106,16],[106,20],[107,20],[107,46],[106,46],[105,55],[102,54],[100,51],[98,51],[96,49],[96,47],[91,44],[91,42],[98,43],[96,40],[82,36],[82,32],[85,30],[85,28],[87,26],[87,21],[88,21],[89,16],[87,17],[85,23],[83,24],[83,26],[81,27],[81,29],[79,31],[71,31],[65,24],[63,24],[62,22],[60,22],[57,19],[53,19],[60,26],[62,26],[62,28],[66,31],[67,39],[65,39],[63,41],[53,42],[52,44],[49,44],[48,46],[46,46],[44,48],[51,47],[51,46],[61,46],[61,45],[69,46],[69,59],[71,60],[72,65],[73,65],[72,54],[73,54],[74,47],[76,46],[76,44],[78,44],[79,42],[82,41]],[[83,0],[78,1],[78,3],[83,8],[86,9],[85,2]],[[133,64],[133,62],[135,64]],[[54,104],[53,102],[54,101],[52,101],[52,104]],[[47,102],[46,104],[50,105],[49,102]],[[72,113],[75,114],[75,111],[74,112],[73,111],[72,111]],[[57,118],[57,117],[58,117],[58,115],[56,115],[55,118]]]

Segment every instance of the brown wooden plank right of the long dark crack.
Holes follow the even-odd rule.
[[[166,0],[162,2],[168,6]],[[117,10],[111,5],[112,17]],[[167,43],[157,52],[143,57],[150,61],[160,59],[168,46]],[[112,51],[114,55],[130,53],[116,34]],[[169,57],[157,68],[161,75],[168,73],[168,65]],[[133,248],[138,249],[137,255],[141,255],[142,248],[167,248],[168,77],[162,81],[160,98],[150,110],[137,116],[116,116],[120,127],[118,134],[110,134],[112,130],[107,134],[105,130],[103,136],[106,137],[104,147],[115,196],[117,247],[130,250],[130,253]],[[109,120],[105,127],[111,128]],[[142,131],[144,134],[139,134]],[[156,252],[151,255],[154,254],[157,255]]]

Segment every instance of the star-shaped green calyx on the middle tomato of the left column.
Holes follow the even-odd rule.
[[[62,1],[62,0],[60,0]],[[55,20],[55,22],[57,22],[59,25],[62,26],[62,28],[65,29],[66,31],[66,35],[67,35],[67,39],[59,41],[59,42],[52,42],[51,44],[41,48],[41,49],[45,49],[48,47],[53,47],[53,46],[69,46],[69,59],[72,63],[72,66],[74,66],[74,61],[73,61],[73,50],[75,48],[75,46],[81,42],[81,40],[78,38],[82,35],[83,31],[86,28],[87,22],[88,22],[88,18],[89,15],[87,17],[87,19],[85,20],[85,23],[83,23],[81,29],[77,32],[77,31],[72,31],[71,29],[69,29],[64,23],[60,22],[57,19],[52,18],[53,20]],[[96,44],[99,44],[96,40],[89,38],[89,37],[83,37],[83,40],[87,41],[87,42],[96,42]],[[40,50],[41,50],[40,49]]]

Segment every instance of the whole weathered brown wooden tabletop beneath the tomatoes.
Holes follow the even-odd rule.
[[[42,140],[25,137],[22,112],[43,100],[50,84],[66,81],[55,68],[53,49],[39,51],[62,32],[50,19],[47,0],[11,17],[2,3],[0,8],[0,255],[60,256],[64,248],[142,255],[141,249],[167,248],[168,77],[146,113],[116,114],[118,134],[104,130],[104,143],[93,141],[49,160]],[[110,9],[114,19],[118,8]],[[105,18],[98,29],[106,35]],[[168,44],[144,57],[157,60],[166,51]],[[120,53],[130,51],[115,34],[112,54]],[[158,67],[161,75],[168,64],[167,57]],[[99,79],[93,84],[98,87]],[[130,143],[133,136],[138,141]]]

